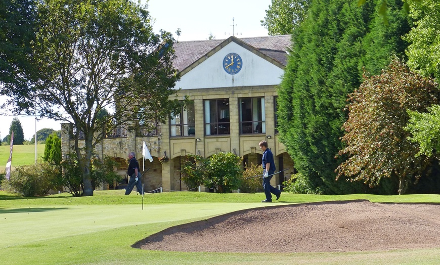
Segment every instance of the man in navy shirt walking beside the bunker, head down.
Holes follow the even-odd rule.
[[[281,196],[281,191],[275,189],[271,185],[272,176],[275,173],[275,162],[274,155],[271,150],[268,149],[268,142],[261,141],[259,144],[261,151],[263,151],[263,157],[261,159],[261,165],[264,169],[263,171],[263,189],[265,190],[266,199],[261,202],[272,202],[272,194],[277,196],[277,200]]]

